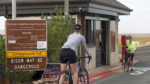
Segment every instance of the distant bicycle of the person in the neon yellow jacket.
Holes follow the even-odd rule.
[[[131,66],[131,51],[130,50],[126,50],[124,59],[125,59],[124,71],[128,72],[130,70],[130,66]]]

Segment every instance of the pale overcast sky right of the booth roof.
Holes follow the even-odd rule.
[[[118,0],[133,9],[120,16],[119,33],[150,33],[150,0]]]

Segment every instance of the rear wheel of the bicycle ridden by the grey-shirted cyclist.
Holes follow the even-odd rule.
[[[64,75],[64,79],[62,80],[62,83],[60,83],[60,78]],[[69,81],[70,80],[70,81]],[[70,82],[70,83],[69,83]],[[73,84],[73,80],[72,77],[69,77],[69,72],[68,71],[62,71],[59,75],[58,75],[58,79],[57,79],[57,84]]]

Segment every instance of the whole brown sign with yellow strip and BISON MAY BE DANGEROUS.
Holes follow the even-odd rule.
[[[47,33],[45,20],[6,21],[7,64],[16,70],[45,70]]]

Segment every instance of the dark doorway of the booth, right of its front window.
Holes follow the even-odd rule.
[[[106,65],[107,21],[95,21],[96,28],[96,67]]]

